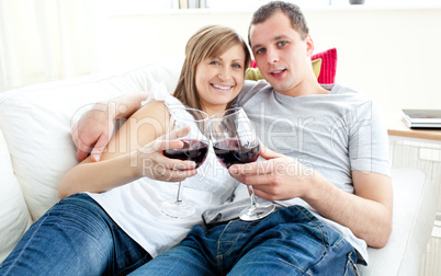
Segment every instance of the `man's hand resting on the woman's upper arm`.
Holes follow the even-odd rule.
[[[114,113],[106,104],[95,104],[72,128],[72,140],[77,147],[77,160],[84,160],[90,153],[92,161],[99,161],[114,129]]]

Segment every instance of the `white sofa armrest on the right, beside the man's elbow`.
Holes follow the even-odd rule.
[[[361,275],[418,275],[421,256],[433,228],[437,199],[433,185],[412,168],[392,171],[394,184],[394,225],[383,249],[369,248],[369,266]]]

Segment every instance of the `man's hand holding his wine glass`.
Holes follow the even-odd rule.
[[[252,185],[255,194],[269,200],[286,200],[302,197],[307,183],[318,173],[304,166],[296,159],[276,153],[261,145],[260,156],[264,161],[236,164],[229,173],[237,181]]]

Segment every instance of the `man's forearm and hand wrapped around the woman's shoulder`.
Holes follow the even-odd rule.
[[[100,102],[84,113],[72,128],[72,140],[77,147],[77,160],[84,160],[89,152],[92,161],[99,161],[101,154],[112,138],[114,119],[128,118],[139,110],[148,92],[122,95]]]

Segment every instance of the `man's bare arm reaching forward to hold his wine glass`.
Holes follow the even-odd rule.
[[[348,227],[370,246],[383,248],[392,232],[392,182],[378,173],[352,172],[354,194],[347,193],[295,159],[267,148],[265,161],[231,165],[230,174],[252,185],[257,196],[269,200],[299,197],[321,216]],[[295,168],[296,170],[292,170]]]

